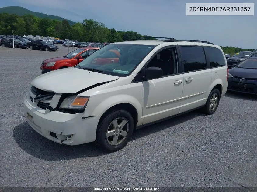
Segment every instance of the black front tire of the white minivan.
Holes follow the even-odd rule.
[[[107,131],[108,131],[111,123],[115,119],[119,119],[119,118],[127,120],[128,124],[125,125],[127,127],[124,126],[125,129],[127,130],[127,135],[124,138],[122,138],[122,136],[121,136],[122,139],[121,139],[120,143],[118,143],[116,145],[111,145],[107,139],[106,134],[107,134]],[[122,149],[123,147],[125,147],[125,145],[127,144],[127,142],[130,139],[130,136],[133,133],[133,130],[134,130],[134,120],[133,120],[132,115],[129,112],[122,110],[122,109],[112,110],[112,111],[110,111],[110,113],[103,116],[98,123],[97,129],[96,129],[96,143],[104,151],[108,151],[108,152],[118,151],[118,150]],[[115,133],[115,130],[114,130],[114,133]],[[116,135],[118,135],[118,134],[116,134]],[[114,136],[115,136],[115,134],[114,134]],[[118,136],[118,137],[120,137],[120,136]]]

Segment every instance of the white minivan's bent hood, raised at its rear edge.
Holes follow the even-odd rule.
[[[117,80],[120,77],[87,71],[74,67],[58,69],[36,77],[31,84],[44,91],[77,93],[97,83]]]

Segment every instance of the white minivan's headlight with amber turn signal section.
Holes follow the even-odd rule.
[[[85,109],[89,98],[89,96],[68,96],[61,103],[59,109]]]

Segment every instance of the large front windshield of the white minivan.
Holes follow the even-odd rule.
[[[154,48],[154,45],[109,44],[86,57],[76,68],[128,76]]]

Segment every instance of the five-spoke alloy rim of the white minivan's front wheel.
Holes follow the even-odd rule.
[[[107,129],[106,139],[110,145],[118,145],[127,137],[129,123],[123,117],[118,117],[113,120]]]

